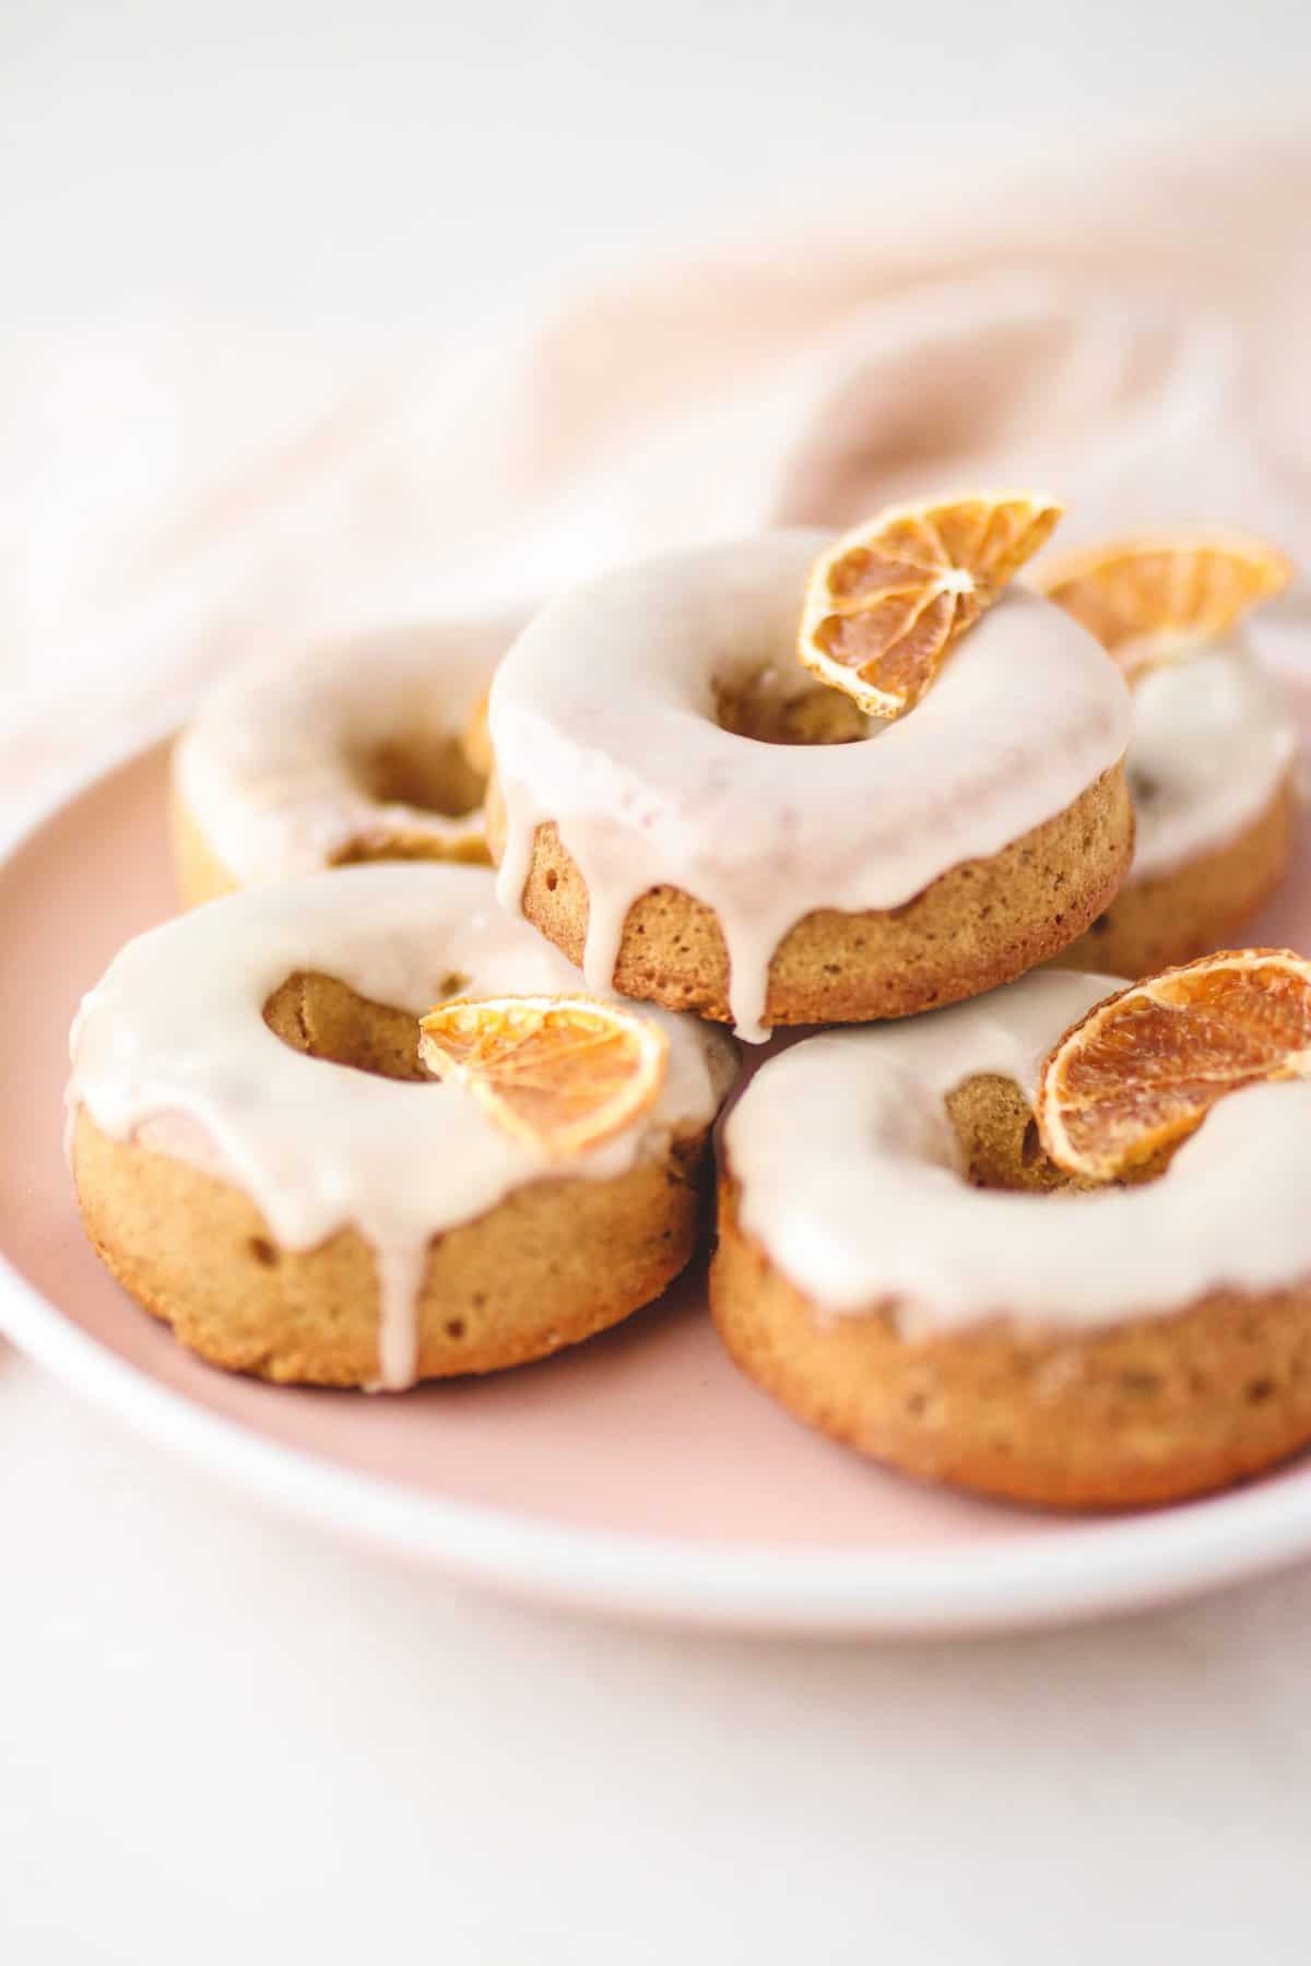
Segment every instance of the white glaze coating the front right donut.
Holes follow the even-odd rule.
[[[908,1337],[995,1315],[1089,1329],[1311,1278],[1305,1081],[1223,1099],[1140,1187],[1034,1195],[963,1178],[947,1093],[998,1073],[1032,1099],[1044,1056],[1111,989],[1034,971],[769,1060],[725,1127],[743,1227],[822,1311],[896,1300]]]

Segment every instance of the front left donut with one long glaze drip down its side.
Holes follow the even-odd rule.
[[[576,987],[478,867],[322,871],[140,936],[73,1030],[94,1248],[183,1345],[269,1380],[403,1388],[617,1323],[692,1254],[731,1044],[645,1012],[655,1105],[568,1162],[419,1083],[432,1003]]]

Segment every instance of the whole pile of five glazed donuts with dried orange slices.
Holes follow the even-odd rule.
[[[1242,633],[1287,568],[1057,519],[934,499],[224,680],[187,912],[73,1030],[124,1288],[214,1366],[403,1390],[713,1244],[743,1372],[920,1478],[1128,1506],[1311,1441],[1311,965],[1226,948],[1293,851]]]

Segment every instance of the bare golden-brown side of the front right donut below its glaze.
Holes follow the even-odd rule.
[[[1169,1502],[1311,1441],[1311,1280],[1093,1333],[993,1321],[906,1339],[892,1305],[826,1317],[743,1231],[725,1184],[710,1301],[733,1360],[796,1419],[906,1474],[1014,1502]]]

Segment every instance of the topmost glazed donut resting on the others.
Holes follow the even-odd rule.
[[[904,1016],[1065,948],[1118,889],[1130,710],[1093,637],[1012,588],[871,729],[796,661],[824,545],[770,533],[607,574],[501,665],[497,893],[592,989],[751,1040]]]

